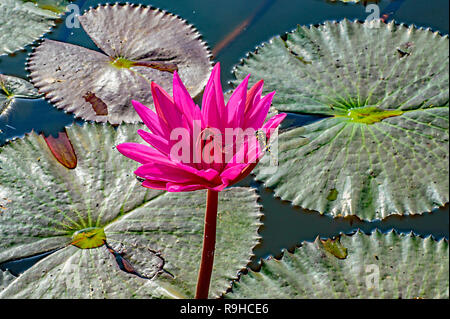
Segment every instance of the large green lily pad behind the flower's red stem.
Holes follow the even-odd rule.
[[[0,298],[194,296],[206,192],[140,186],[138,164],[114,147],[137,142],[139,128],[68,128],[75,169],[60,165],[36,134],[0,148],[0,264],[56,250]],[[259,242],[257,199],[251,188],[219,195],[212,297],[230,287]]]

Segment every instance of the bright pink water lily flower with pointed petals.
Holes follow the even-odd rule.
[[[205,88],[202,109],[177,72],[173,98],[151,84],[156,112],[132,102],[151,131],[139,130],[138,134],[151,146],[124,143],[117,149],[142,164],[135,174],[144,180],[144,187],[169,192],[221,191],[252,171],[265,152],[265,142],[258,135],[268,140],[286,114],[264,124],[275,92],[262,97],[262,80],[247,91],[248,80],[249,76],[225,105],[218,63]]]

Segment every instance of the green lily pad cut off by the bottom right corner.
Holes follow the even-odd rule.
[[[281,260],[263,261],[226,298],[446,298],[449,297],[448,241],[395,232],[342,236],[345,259],[305,242]]]

